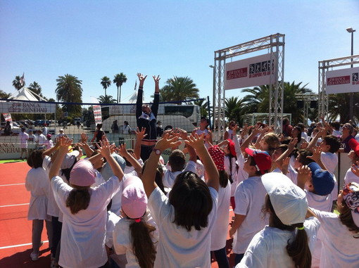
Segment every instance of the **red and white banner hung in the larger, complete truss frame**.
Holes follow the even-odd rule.
[[[275,70],[275,60],[270,53],[225,65],[225,89],[241,89],[270,84],[270,74]]]

